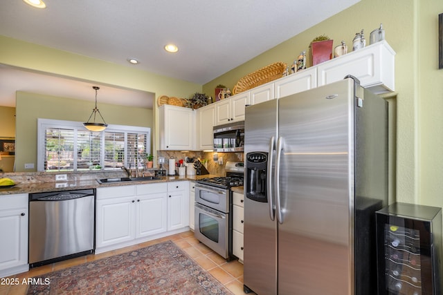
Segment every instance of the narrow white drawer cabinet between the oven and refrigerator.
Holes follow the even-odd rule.
[[[233,254],[243,262],[244,251],[244,196],[233,193]]]

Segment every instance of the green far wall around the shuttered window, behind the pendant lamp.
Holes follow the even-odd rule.
[[[91,115],[93,102],[80,99],[17,92],[16,171],[37,169],[37,119],[53,119],[85,122]],[[107,122],[116,125],[153,128],[153,111],[147,108],[99,105]],[[34,163],[35,169],[24,169],[25,163]]]

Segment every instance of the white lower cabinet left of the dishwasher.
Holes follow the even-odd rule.
[[[0,277],[28,267],[28,194],[0,197]]]

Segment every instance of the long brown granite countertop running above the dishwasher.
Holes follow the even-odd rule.
[[[71,191],[76,189],[96,189],[99,187],[122,187],[125,185],[136,185],[136,184],[150,184],[159,182],[172,182],[172,181],[183,181],[183,180],[199,180],[201,178],[213,178],[217,175],[206,174],[206,175],[186,175],[186,176],[161,176],[160,180],[143,180],[136,182],[111,182],[99,184],[96,179],[87,180],[74,180],[66,182],[17,182],[15,187],[10,188],[0,188],[0,197],[19,194],[19,193],[42,193],[48,191]]]

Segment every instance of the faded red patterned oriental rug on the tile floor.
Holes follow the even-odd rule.
[[[33,278],[28,294],[233,294],[174,242]]]

